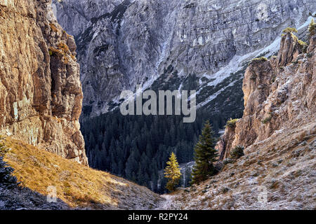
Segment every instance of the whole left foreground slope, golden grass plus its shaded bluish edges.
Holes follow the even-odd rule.
[[[11,138],[4,160],[15,169],[22,188],[0,183],[0,209],[154,209],[162,200],[145,187],[106,172],[91,169]],[[58,203],[47,203],[49,186]]]

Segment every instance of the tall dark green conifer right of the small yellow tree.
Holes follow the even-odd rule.
[[[209,176],[215,174],[213,162],[216,162],[218,156],[215,145],[216,139],[213,137],[211,125],[207,120],[195,146],[195,167],[192,170],[192,184],[205,181]]]

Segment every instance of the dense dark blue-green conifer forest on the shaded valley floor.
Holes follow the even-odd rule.
[[[171,152],[180,164],[191,162],[204,121],[211,120],[217,133],[227,119],[198,110],[194,123],[183,123],[183,116],[122,116],[116,110],[85,120],[81,132],[91,167],[165,193],[167,180],[159,171]]]

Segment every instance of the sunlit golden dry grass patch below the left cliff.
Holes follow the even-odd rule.
[[[15,169],[15,176],[22,186],[47,195],[48,186],[55,186],[57,197],[71,207],[106,204],[117,207],[121,190],[129,188],[129,182],[100,172],[59,155],[23,144],[11,138],[2,140],[11,150],[4,160]]]

